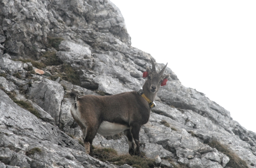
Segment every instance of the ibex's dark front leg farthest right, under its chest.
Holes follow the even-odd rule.
[[[140,153],[139,150],[139,131],[140,131],[140,125],[133,125],[130,128],[131,134],[132,134],[132,138],[133,138],[133,145],[134,145],[134,152],[135,155],[140,156],[143,158],[143,156]]]

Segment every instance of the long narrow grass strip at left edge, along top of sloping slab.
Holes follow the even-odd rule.
[[[28,101],[18,100],[16,98],[16,93],[14,91],[6,91],[3,87],[0,86],[0,89],[3,90],[14,103],[18,104],[21,108],[28,110],[30,113],[35,115],[37,118],[40,117],[38,111],[32,106],[32,104]]]

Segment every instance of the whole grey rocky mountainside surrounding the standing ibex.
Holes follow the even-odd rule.
[[[150,58],[131,46],[109,0],[1,0],[0,167],[118,167],[85,154],[66,93],[137,91]],[[156,63],[157,71],[162,67]],[[183,86],[171,69],[165,73],[171,76],[140,130],[145,156],[194,168],[256,167],[256,133]],[[97,134],[93,144],[128,153],[122,133]]]

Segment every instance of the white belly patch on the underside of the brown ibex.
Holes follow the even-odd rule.
[[[122,124],[110,123],[108,121],[103,121],[100,124],[98,133],[103,136],[109,136],[109,135],[118,134],[126,129],[129,129],[129,127],[122,125]]]

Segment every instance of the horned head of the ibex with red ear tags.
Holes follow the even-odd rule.
[[[147,85],[147,89],[151,93],[156,93],[159,90],[161,83],[164,81],[164,79],[168,79],[170,77],[170,74],[163,75],[163,72],[168,62],[159,73],[156,72],[155,63],[152,58],[151,58],[151,62],[152,62],[152,71],[150,71],[149,67],[146,68],[146,72],[148,72],[148,76],[147,76],[148,80],[145,82],[145,84]]]

